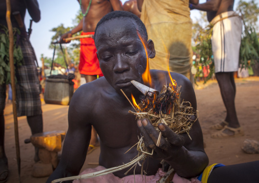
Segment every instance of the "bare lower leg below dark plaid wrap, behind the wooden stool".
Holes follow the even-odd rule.
[[[42,114],[36,115],[36,116],[27,116],[27,121],[31,128],[32,135],[43,132]],[[39,148],[35,147],[35,156],[34,156],[35,162],[40,161],[38,153],[39,153]]]

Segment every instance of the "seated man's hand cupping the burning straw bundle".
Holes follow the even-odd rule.
[[[138,120],[138,126],[143,136],[145,146],[149,149],[149,152],[151,152],[152,149],[154,150],[152,158],[157,160],[170,161],[188,138],[187,134],[177,135],[166,124],[159,123],[158,128],[162,133],[162,137],[157,146],[160,133],[154,128],[151,122],[148,119]]]

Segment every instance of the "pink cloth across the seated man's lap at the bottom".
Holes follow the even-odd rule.
[[[80,175],[87,174],[87,173],[93,173],[101,170],[105,170],[105,167],[98,166],[96,168],[88,168],[84,170]],[[163,172],[162,168],[158,169],[158,172],[156,175],[149,175],[144,176],[141,175],[135,175],[135,181],[136,183],[156,183],[162,176],[165,175],[165,172]],[[134,183],[134,175],[128,175],[123,178],[119,178],[115,176],[113,173],[110,173],[108,175],[102,175],[94,178],[87,178],[87,179],[80,179],[80,180],[74,180],[73,183],[80,183],[80,182],[87,182],[87,183]],[[174,183],[201,183],[197,178],[191,178],[186,179],[183,177],[178,176],[176,173],[173,176],[172,181]]]

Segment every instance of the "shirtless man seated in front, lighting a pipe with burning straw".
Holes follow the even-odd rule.
[[[176,135],[166,125],[159,124],[164,137],[158,147],[154,142],[157,141],[159,132],[148,120],[137,121],[135,115],[128,113],[133,108],[120,89],[128,98],[133,94],[139,102],[139,97],[143,94],[130,81],[143,84],[142,73],[146,69],[145,49],[137,31],[146,42],[148,57],[153,58],[156,54],[154,44],[147,39],[145,25],[136,15],[115,11],[103,17],[97,24],[95,44],[100,68],[105,77],[87,83],[75,91],[69,105],[69,127],[61,161],[47,182],[79,174],[87,155],[92,125],[100,137],[99,165],[105,168],[130,162],[138,151],[132,148],[125,152],[138,142],[140,134],[144,135],[146,144],[154,149],[154,154],[144,163],[147,175],[156,174],[161,167],[161,160],[167,161],[179,176],[187,178],[197,176],[208,165],[198,120],[190,130],[192,140],[186,134]],[[170,81],[168,72],[150,72],[153,81],[150,87],[161,91],[167,84],[166,81]],[[196,97],[191,82],[181,74],[171,75],[182,86],[181,98],[190,101],[196,110]],[[150,137],[154,137],[153,140]],[[168,138],[169,143],[165,138]],[[124,177],[125,171],[114,172],[114,175]],[[133,173],[134,169],[127,175]],[[141,167],[137,166],[135,173],[140,174]]]

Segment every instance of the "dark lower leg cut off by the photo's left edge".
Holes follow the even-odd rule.
[[[1,112],[3,113],[3,112]],[[8,161],[5,153],[5,119],[4,114],[0,114],[0,182],[7,181]]]

